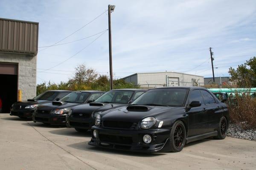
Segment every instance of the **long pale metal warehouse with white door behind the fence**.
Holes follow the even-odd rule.
[[[123,79],[143,88],[204,85],[204,77],[202,76],[177,72],[135,73]]]

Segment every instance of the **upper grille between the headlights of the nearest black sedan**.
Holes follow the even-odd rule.
[[[103,121],[103,127],[135,129],[137,123],[133,122],[117,122],[117,121]]]

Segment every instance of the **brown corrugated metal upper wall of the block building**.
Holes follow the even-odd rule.
[[[38,52],[38,23],[0,18],[0,51]]]

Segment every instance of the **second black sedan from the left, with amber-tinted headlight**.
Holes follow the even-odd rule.
[[[38,106],[33,114],[33,121],[51,125],[66,125],[66,116],[70,108],[93,102],[104,93],[104,91],[74,91],[59,101]]]

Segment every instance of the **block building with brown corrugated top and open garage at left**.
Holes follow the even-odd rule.
[[[9,112],[18,98],[35,97],[37,52],[38,23],[0,18],[0,98],[3,113]]]

